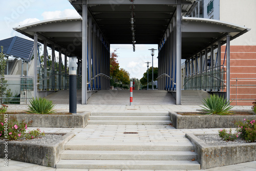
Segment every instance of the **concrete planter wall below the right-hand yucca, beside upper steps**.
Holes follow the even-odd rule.
[[[219,115],[203,115],[203,116],[183,116],[175,112],[169,112],[170,120],[176,129],[203,129],[218,127],[236,127],[235,121],[243,121],[244,119],[253,120],[255,115],[251,116],[219,116]]]

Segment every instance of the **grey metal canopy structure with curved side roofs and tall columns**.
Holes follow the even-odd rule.
[[[158,80],[158,88],[175,92],[176,104],[181,104],[181,59],[194,63],[194,59],[200,58],[200,63],[196,62],[197,71],[208,73],[207,65],[202,64],[207,63],[210,52],[212,67],[209,71],[212,73],[214,49],[220,52],[221,45],[227,44],[229,100],[229,41],[249,31],[246,27],[183,17],[194,0],[69,1],[82,18],[46,20],[14,30],[58,50],[59,56],[61,53],[77,56],[82,77],[82,104],[87,104],[88,90],[110,88],[108,79],[95,78],[100,74],[110,75],[110,44],[131,44],[131,53],[132,45],[135,50],[136,44],[158,44],[159,76],[168,76]],[[220,68],[220,57],[218,60]],[[95,79],[89,82],[91,78]]]

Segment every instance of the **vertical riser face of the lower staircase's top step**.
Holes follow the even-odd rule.
[[[193,145],[68,145],[66,150],[84,150],[84,151],[193,151]]]

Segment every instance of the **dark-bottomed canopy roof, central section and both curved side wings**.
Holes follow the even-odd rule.
[[[132,52],[132,31],[131,31],[131,6],[129,0],[117,4],[118,0],[112,0],[109,4],[105,0],[87,0],[89,16],[92,16],[93,23],[96,23],[104,39],[109,44],[131,44]],[[120,0],[119,0],[120,1]],[[182,1],[182,12],[189,10],[191,1]],[[82,1],[70,0],[74,8],[81,14]],[[100,4],[102,3],[102,4]],[[162,3],[162,4],[161,4]],[[172,4],[173,3],[173,4]],[[176,0],[135,0],[134,1],[134,28],[136,44],[160,44],[170,23],[173,22],[173,15],[176,12]],[[46,20],[20,26],[14,30],[33,38],[34,32],[38,34],[39,42],[48,40],[48,46],[55,44],[81,58],[81,18],[62,18]],[[231,39],[247,32],[249,29],[219,20],[205,18],[182,18],[182,58],[187,59],[198,52],[216,46],[217,41],[225,43],[227,34]]]

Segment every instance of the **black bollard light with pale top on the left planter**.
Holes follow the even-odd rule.
[[[76,114],[76,57],[69,58],[69,112]]]

